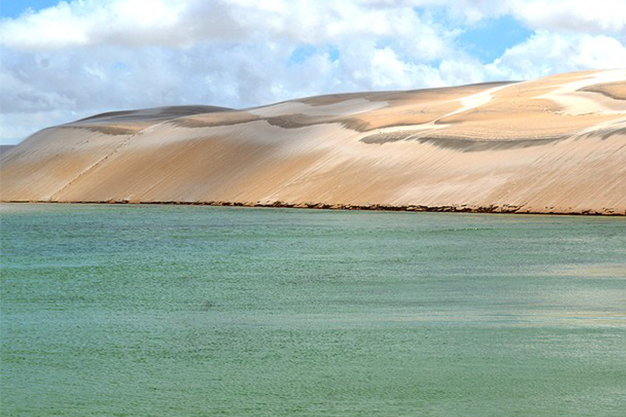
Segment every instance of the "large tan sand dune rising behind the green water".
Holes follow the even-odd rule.
[[[2,201],[626,214],[626,70],[114,112],[4,153]]]

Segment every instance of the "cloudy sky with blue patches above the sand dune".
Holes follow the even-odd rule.
[[[94,113],[626,67],[626,0],[2,0],[0,143]]]

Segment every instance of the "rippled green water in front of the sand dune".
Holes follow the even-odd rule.
[[[2,205],[2,416],[624,416],[626,219]]]

